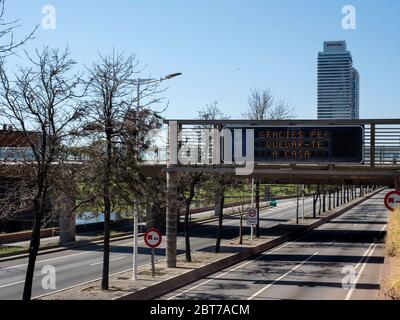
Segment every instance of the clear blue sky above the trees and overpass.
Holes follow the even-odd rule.
[[[182,72],[165,82],[169,118],[193,118],[218,101],[240,118],[252,87],[269,87],[316,118],[316,61],[324,40],[346,40],[360,72],[360,117],[399,117],[398,0],[6,0],[6,17],[27,32],[56,8],[56,29],[39,28],[28,51],[67,44],[79,63],[113,48],[138,55],[143,76]],[[357,12],[356,30],[341,26],[344,5]],[[20,63],[12,58],[9,63]]]

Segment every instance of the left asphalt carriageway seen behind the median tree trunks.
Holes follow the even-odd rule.
[[[300,210],[301,212],[301,210]],[[312,199],[306,198],[305,212],[312,213]],[[273,227],[279,223],[291,220],[296,215],[296,201],[294,199],[279,200],[275,208],[264,209],[260,212],[260,231]],[[224,239],[235,238],[239,234],[239,217],[225,218]],[[250,233],[248,227],[245,234]],[[191,249],[206,250],[215,244],[217,221],[191,226]],[[32,297],[68,288],[80,283],[95,280],[101,277],[102,271],[102,244],[91,244],[80,248],[70,249],[57,253],[38,256]],[[178,237],[178,254],[184,251],[184,238]],[[139,239],[139,265],[150,263],[150,250],[145,247],[143,239]],[[165,259],[165,238],[160,248],[156,249],[156,260]],[[56,270],[56,288],[45,290],[42,288],[43,267],[50,265]],[[16,259],[0,263],[0,300],[22,298],[27,258]],[[132,240],[118,240],[111,243],[110,274],[128,271],[132,268]]]

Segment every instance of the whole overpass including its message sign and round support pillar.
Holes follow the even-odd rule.
[[[168,267],[176,266],[177,173],[400,189],[400,119],[165,120],[165,124],[168,144],[161,170],[167,173]]]

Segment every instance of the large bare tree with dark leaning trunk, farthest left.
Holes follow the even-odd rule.
[[[76,101],[81,80],[78,74],[72,74],[75,62],[68,50],[44,48],[28,59],[31,65],[19,68],[12,80],[4,68],[0,71],[1,116],[23,133],[32,152],[29,172],[34,187],[34,223],[24,300],[31,298],[40,228],[50,211],[54,177],[62,166],[64,142],[76,130],[82,114]]]

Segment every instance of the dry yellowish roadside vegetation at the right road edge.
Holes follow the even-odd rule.
[[[400,299],[400,209],[390,213],[386,233],[386,254],[391,258],[391,268],[385,293],[392,299]]]

